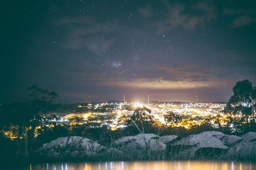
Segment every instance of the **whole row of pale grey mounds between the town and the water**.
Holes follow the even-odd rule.
[[[125,136],[111,147],[80,136],[61,137],[39,150],[41,158],[58,161],[222,159],[256,161],[256,133],[241,137],[205,131],[182,139],[153,133]]]

